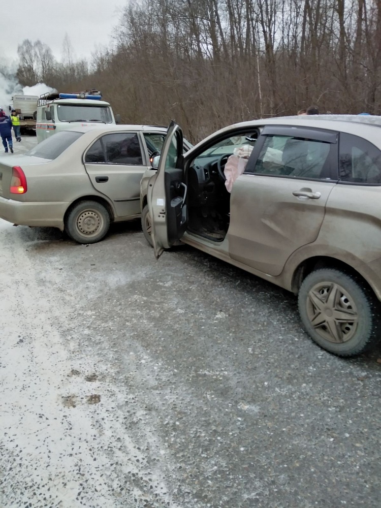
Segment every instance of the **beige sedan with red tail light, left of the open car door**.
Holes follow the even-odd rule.
[[[140,217],[140,180],[166,133],[150,125],[75,127],[1,157],[0,217],[98,242],[111,222]]]

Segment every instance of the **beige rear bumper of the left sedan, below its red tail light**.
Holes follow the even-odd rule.
[[[63,217],[70,203],[27,202],[0,196],[0,218],[20,226],[59,228],[63,231]]]

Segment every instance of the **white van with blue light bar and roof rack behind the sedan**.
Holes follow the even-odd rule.
[[[39,98],[36,124],[38,143],[73,126],[83,127],[97,123],[120,123],[120,116],[114,117],[110,104],[102,101],[99,90],[48,92]]]

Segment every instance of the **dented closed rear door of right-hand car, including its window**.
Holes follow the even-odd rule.
[[[269,127],[257,143],[233,185],[229,254],[276,276],[295,250],[319,235],[338,179],[338,135]]]

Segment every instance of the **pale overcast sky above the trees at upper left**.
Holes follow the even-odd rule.
[[[128,0],[16,0],[1,4],[0,57],[17,60],[17,46],[24,39],[40,39],[50,46],[54,56],[62,57],[67,33],[76,58],[90,57],[97,46],[108,45],[118,24],[118,11]]]

